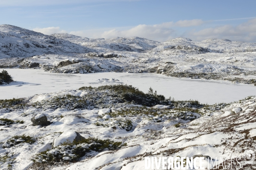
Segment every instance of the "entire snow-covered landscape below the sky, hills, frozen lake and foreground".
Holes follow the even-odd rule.
[[[0,169],[143,170],[145,157],[196,155],[256,169],[256,43],[0,25],[0,46],[15,81],[0,86]],[[131,86],[102,86],[113,84]]]

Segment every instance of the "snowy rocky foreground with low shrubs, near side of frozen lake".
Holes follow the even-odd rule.
[[[256,169],[255,101],[205,105],[128,85],[0,100],[0,168],[138,170],[145,157],[203,155]]]

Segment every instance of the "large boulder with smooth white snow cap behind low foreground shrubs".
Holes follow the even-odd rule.
[[[78,132],[74,131],[68,131],[64,132],[59,137],[53,139],[52,149],[57,147],[60,144],[63,144],[64,142],[73,143],[73,142],[79,142],[85,139],[82,137]]]

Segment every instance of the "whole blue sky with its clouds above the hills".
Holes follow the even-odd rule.
[[[256,0],[1,0],[0,24],[89,38],[256,42],[255,6]]]

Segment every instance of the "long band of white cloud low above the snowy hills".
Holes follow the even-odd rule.
[[[141,24],[134,27],[91,29],[67,32],[59,27],[35,28],[33,31],[43,34],[69,33],[88,38],[112,38],[112,37],[144,37],[160,42],[171,40],[176,37],[186,37],[191,40],[205,40],[208,38],[221,38],[237,41],[256,42],[256,18],[241,23],[238,26],[222,25],[200,29],[202,24],[210,21],[203,20],[180,20],[156,25]],[[195,30],[194,28],[197,28]],[[181,27],[183,27],[181,29]],[[182,32],[180,31],[182,30]]]

